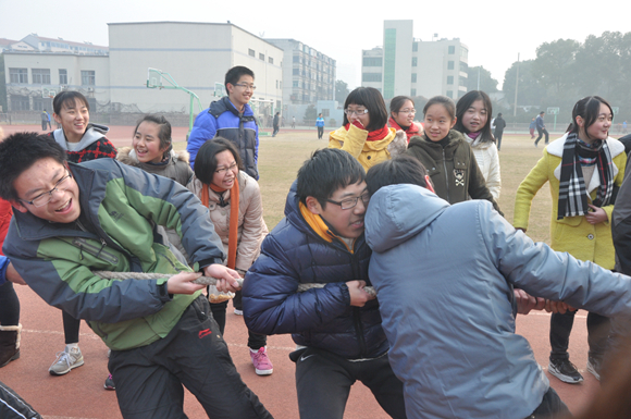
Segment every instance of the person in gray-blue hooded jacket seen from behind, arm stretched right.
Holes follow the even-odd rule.
[[[449,205],[424,173],[399,158],[367,177],[369,275],[408,418],[564,417],[567,407],[515,333],[512,287],[550,308],[565,301],[629,316],[631,278],[533,243],[488,201]]]

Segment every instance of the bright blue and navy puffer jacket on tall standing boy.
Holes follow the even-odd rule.
[[[186,151],[190,155],[190,167],[195,167],[195,158],[199,148],[209,139],[224,137],[233,141],[244,163],[244,171],[258,180],[259,171],[259,126],[249,104],[244,107],[244,113],[235,109],[227,96],[210,103],[210,108],[199,112],[188,137]]]

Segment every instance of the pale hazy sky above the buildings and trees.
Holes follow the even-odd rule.
[[[585,8],[584,4],[590,4]],[[627,4],[627,5],[624,5]],[[542,42],[631,30],[628,1],[226,1],[0,0],[0,38],[30,33],[108,46],[108,23],[231,23],[263,38],[294,38],[337,61],[337,79],[361,83],[361,50],[383,44],[384,20],[413,20],[415,37],[460,38],[469,66],[483,65],[504,83],[517,60],[534,59]]]

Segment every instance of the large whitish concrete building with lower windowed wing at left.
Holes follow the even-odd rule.
[[[147,88],[148,69],[169,73],[206,108],[215,99],[215,83],[222,87],[225,72],[235,65],[255,72],[252,104],[260,116],[282,107],[283,50],[231,23],[112,23],[109,44],[84,48],[32,34],[5,47],[9,111],[50,110],[42,95],[67,88],[88,97],[95,113],[188,113],[186,93]]]

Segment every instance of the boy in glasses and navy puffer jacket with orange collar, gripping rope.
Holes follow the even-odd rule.
[[[256,333],[292,333],[300,418],[342,419],[350,386],[367,385],[393,418],[403,386],[370,284],[363,237],[364,171],[338,149],[316,151],[298,171],[285,218],[262,243],[244,283],[244,316]],[[298,293],[301,283],[321,288]]]

